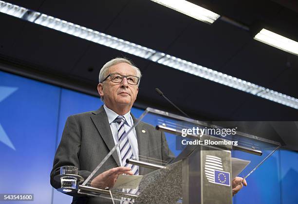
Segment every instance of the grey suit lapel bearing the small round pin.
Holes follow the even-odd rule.
[[[137,119],[131,114],[133,124],[137,122]],[[135,127],[135,132],[137,135],[138,140],[138,149],[139,149],[139,155],[141,156],[147,156],[148,155],[148,130],[144,129],[144,124],[142,122],[139,122],[139,124]],[[140,158],[139,158],[140,159]],[[144,159],[143,159],[144,161]],[[140,175],[144,174],[146,168],[140,167]]]

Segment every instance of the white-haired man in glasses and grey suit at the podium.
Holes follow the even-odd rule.
[[[103,66],[99,73],[97,90],[104,105],[97,111],[68,117],[54,158],[51,172],[53,187],[60,187],[54,176],[59,174],[59,168],[62,166],[78,167],[78,174],[86,179],[120,141],[123,132],[127,132],[133,126],[136,119],[130,113],[130,109],[137,97],[140,78],[140,70],[125,58],[112,59]],[[124,139],[126,146],[120,146],[117,152],[112,154],[105,163],[107,168],[95,175],[91,186],[112,187],[120,174],[144,175],[150,172],[148,168],[126,164],[127,158],[138,159],[138,156],[142,155],[164,162],[173,159],[164,133],[155,130],[149,124],[140,122]],[[73,204],[99,203],[111,202],[80,195],[75,195],[73,199]]]

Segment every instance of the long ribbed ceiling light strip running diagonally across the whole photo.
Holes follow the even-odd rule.
[[[0,12],[298,109],[298,99],[192,62],[0,0]]]

